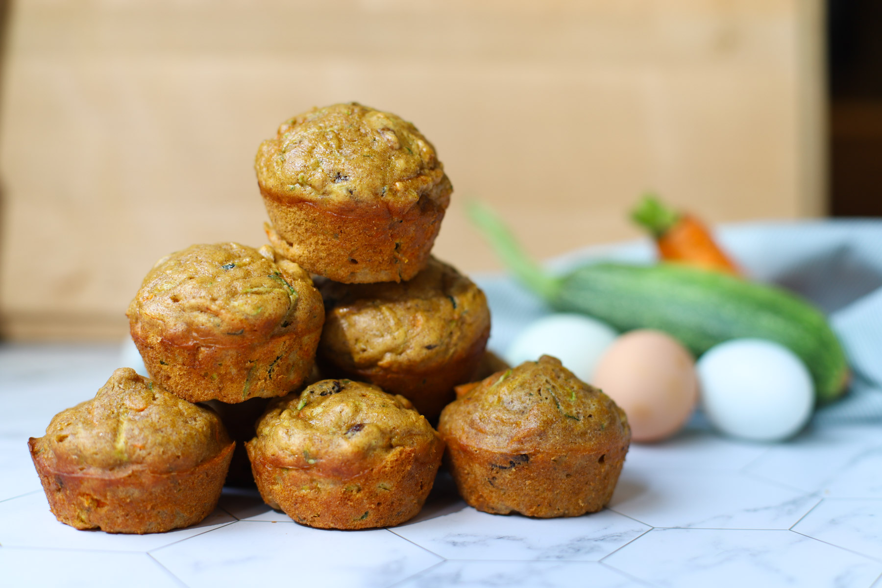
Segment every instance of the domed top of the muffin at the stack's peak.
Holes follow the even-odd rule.
[[[435,148],[399,116],[351,102],[288,119],[255,160],[265,195],[348,209],[383,205],[393,214],[452,191]]]

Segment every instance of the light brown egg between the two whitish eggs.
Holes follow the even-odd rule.
[[[631,331],[616,339],[598,362],[593,380],[624,409],[636,442],[661,441],[676,433],[699,398],[695,361],[662,331]]]

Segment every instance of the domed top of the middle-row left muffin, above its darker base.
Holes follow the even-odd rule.
[[[269,246],[191,245],[156,262],[126,315],[176,345],[240,346],[318,330],[325,310],[310,275],[274,259]]]

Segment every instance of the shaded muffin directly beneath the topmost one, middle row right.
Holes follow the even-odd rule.
[[[399,284],[318,282],[325,330],[318,359],[325,373],[376,383],[409,398],[430,421],[473,379],[490,336],[480,288],[434,257]]]

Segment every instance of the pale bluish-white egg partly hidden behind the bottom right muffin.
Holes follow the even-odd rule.
[[[617,332],[609,324],[588,316],[543,316],[520,331],[505,352],[505,361],[517,366],[553,355],[580,380],[591,382],[597,361],[616,337]]]

